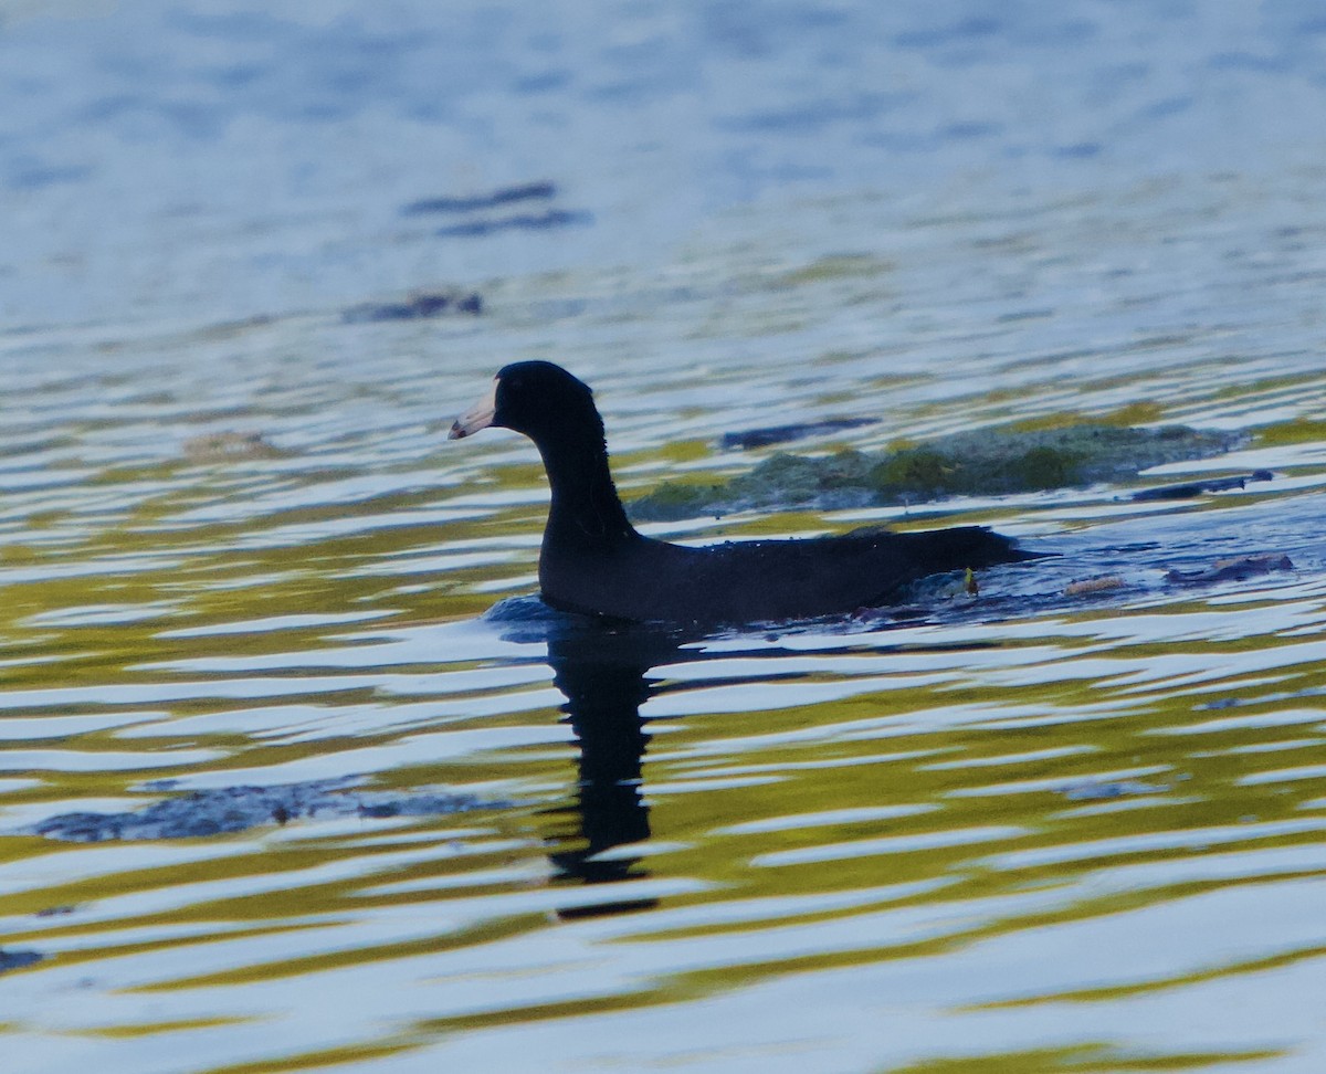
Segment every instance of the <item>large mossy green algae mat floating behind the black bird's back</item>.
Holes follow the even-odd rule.
[[[991,428],[879,452],[778,452],[721,481],[667,481],[629,505],[639,521],[735,510],[887,507],[945,496],[991,496],[1126,481],[1163,463],[1228,451],[1238,436],[1187,426],[1078,423]]]

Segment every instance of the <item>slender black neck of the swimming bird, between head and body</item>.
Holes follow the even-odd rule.
[[[544,540],[557,536],[574,546],[603,546],[636,536],[613,484],[602,432],[538,444],[553,501]]]

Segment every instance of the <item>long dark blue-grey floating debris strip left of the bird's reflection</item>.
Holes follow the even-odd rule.
[[[314,780],[194,790],[130,813],[62,813],[25,829],[24,834],[73,843],[184,839],[285,825],[293,819],[432,817],[507,805],[481,801],[472,794],[353,790],[355,782],[355,778]],[[156,786],[166,789],[168,784]]]

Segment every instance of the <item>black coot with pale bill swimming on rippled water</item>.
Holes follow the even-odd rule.
[[[505,366],[450,439],[488,426],[522,432],[544,457],[552,507],[538,583],[564,610],[700,625],[806,619],[887,603],[926,574],[1036,556],[983,526],[703,548],[644,537],[613,485],[593,392],[552,362]]]

